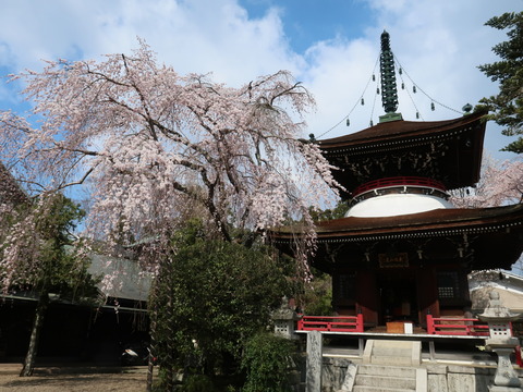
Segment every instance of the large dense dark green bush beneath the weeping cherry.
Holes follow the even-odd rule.
[[[245,342],[270,323],[292,295],[284,264],[269,248],[208,237],[193,221],[175,234],[161,261],[151,306],[156,355],[172,379],[186,373],[238,373]]]

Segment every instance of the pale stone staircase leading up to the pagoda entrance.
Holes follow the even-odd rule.
[[[367,341],[363,364],[351,364],[339,392],[427,392],[421,343]]]

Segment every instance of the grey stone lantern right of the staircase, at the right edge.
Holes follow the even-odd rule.
[[[512,314],[501,304],[499,293],[490,292],[490,299],[485,311],[477,317],[488,322],[490,336],[486,340],[487,350],[498,355],[498,368],[494,378],[494,385],[488,389],[490,392],[515,392],[521,391],[521,381],[514,371],[510,360],[510,354],[519,345],[519,339],[512,336],[511,321],[516,320],[520,315]]]

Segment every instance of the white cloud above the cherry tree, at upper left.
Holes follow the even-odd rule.
[[[129,52],[138,36],[179,72],[212,72],[231,84],[300,63],[276,9],[250,20],[233,0],[21,0],[2,10],[0,25],[16,71],[38,69],[40,59]]]

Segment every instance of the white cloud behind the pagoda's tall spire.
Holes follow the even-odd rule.
[[[319,101],[318,114],[309,120],[317,135],[343,119],[363,93],[378,56],[379,37],[384,28],[390,33],[394,56],[414,83],[437,101],[461,110],[466,102],[475,105],[482,97],[496,94],[496,84],[477,65],[496,61],[491,47],[507,39],[507,36],[484,24],[503,12],[521,11],[521,0],[368,0],[368,3],[377,22],[368,26],[364,38],[319,42],[307,53],[307,61],[313,65],[306,71],[305,77]],[[405,84],[412,85],[406,76],[404,78]],[[372,86],[365,98],[366,106],[356,108],[351,115],[351,127],[340,124],[325,137],[368,126],[374,101],[372,93],[377,85]],[[429,109],[430,99],[419,90],[416,95],[410,91],[424,120],[459,115],[438,105],[433,112]],[[399,111],[405,120],[415,120],[416,108],[406,90],[400,89],[399,93]],[[381,113],[378,99],[374,111],[375,122]],[[489,123],[488,128],[487,148],[498,150],[509,142],[498,136],[499,127],[495,124]]]

